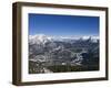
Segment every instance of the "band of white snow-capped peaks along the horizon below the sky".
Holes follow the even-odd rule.
[[[75,36],[48,36],[44,34],[37,34],[37,35],[29,35],[29,43],[30,44],[46,44],[47,42],[75,42],[75,41],[87,41],[90,40],[92,42],[98,42],[99,36],[82,36],[82,37],[75,37]]]

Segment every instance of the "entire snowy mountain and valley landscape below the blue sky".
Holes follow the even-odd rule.
[[[29,74],[99,70],[99,37],[29,36]]]

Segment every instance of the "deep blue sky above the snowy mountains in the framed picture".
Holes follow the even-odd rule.
[[[99,35],[99,16],[29,13],[29,35]]]

